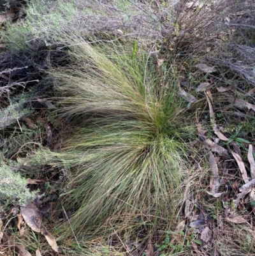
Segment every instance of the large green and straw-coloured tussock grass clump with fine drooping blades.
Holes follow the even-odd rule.
[[[177,77],[162,76],[153,57],[132,47],[76,40],[73,64],[50,74],[59,92],[56,114],[71,128],[61,151],[44,153],[72,170],[63,204],[73,229],[132,214],[170,222],[187,170],[182,140],[191,134]]]

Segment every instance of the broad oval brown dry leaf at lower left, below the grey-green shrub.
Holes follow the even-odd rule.
[[[25,223],[27,223],[27,225],[31,227],[34,232],[41,232],[41,215],[36,205],[30,202],[27,204],[27,206],[21,206],[20,211],[25,220]]]

